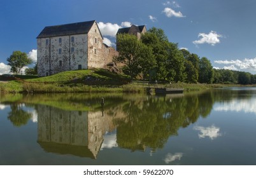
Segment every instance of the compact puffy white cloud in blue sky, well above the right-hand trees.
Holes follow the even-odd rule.
[[[201,37],[201,39],[193,41],[194,44],[208,43],[214,46],[215,44],[220,43],[220,38],[222,38],[222,35],[217,34],[215,31],[211,31],[209,34],[199,33],[198,37]]]

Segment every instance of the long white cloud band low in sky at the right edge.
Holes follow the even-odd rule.
[[[256,71],[256,57],[255,58],[245,58],[243,60],[215,60],[217,64],[225,65],[223,69],[231,69],[234,71],[240,70],[251,70]]]

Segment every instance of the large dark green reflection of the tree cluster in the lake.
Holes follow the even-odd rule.
[[[164,147],[170,135],[181,127],[205,118],[213,107],[211,92],[187,97],[150,97],[132,100],[123,106],[125,120],[117,120],[118,146],[144,150]]]

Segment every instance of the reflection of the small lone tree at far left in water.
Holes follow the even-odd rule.
[[[13,103],[10,105],[10,107],[11,112],[8,113],[8,120],[10,120],[11,123],[17,127],[26,125],[32,114],[24,111],[22,109],[22,104]]]

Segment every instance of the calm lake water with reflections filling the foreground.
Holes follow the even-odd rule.
[[[256,88],[1,95],[0,135],[0,165],[256,165]]]

